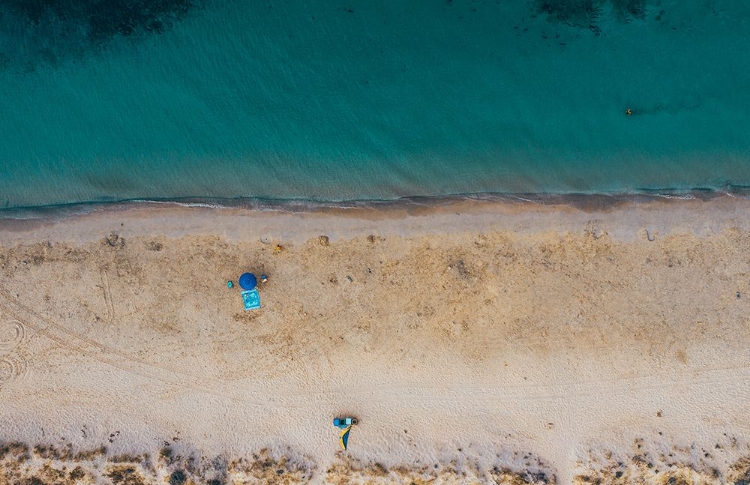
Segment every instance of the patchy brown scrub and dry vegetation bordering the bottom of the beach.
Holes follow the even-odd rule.
[[[551,464],[531,453],[498,454],[487,469],[468,455],[435,462],[386,465],[339,453],[322,475],[317,465],[291,448],[263,448],[241,457],[205,457],[198,452],[161,455],[150,453],[108,455],[103,447],[70,451],[69,446],[29,446],[0,443],[2,485],[227,485],[276,483],[295,485],[318,478],[322,483],[416,484],[492,483],[504,485],[555,485]],[[459,449],[460,450],[460,449]],[[678,446],[668,441],[636,439],[631,449],[614,451],[596,446],[577,461],[575,485],[643,483],[653,485],[713,485],[750,483],[750,447],[723,438],[701,448]],[[740,455],[741,458],[736,459]],[[166,456],[165,456],[166,455]],[[158,456],[152,459],[152,456]],[[715,458],[719,458],[717,461]],[[724,465],[718,465],[723,461]]]

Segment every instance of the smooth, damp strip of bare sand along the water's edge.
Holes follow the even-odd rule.
[[[699,197],[700,196],[700,197]],[[371,205],[228,207],[175,202],[129,202],[86,206],[86,211],[44,218],[0,218],[0,244],[26,240],[99,241],[110,232],[122,236],[149,234],[182,237],[213,235],[230,241],[255,239],[304,242],[327,235],[331,240],[382,235],[429,235],[492,230],[521,234],[591,230],[633,241],[673,231],[696,235],[721,232],[727,224],[750,229],[744,217],[750,198],[730,194],[669,196],[539,196],[508,198],[402,199]],[[564,215],[564,219],[559,216]],[[252,221],[253,226],[248,226]],[[260,236],[259,236],[260,234]]]

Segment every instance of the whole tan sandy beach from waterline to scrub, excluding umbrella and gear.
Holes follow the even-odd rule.
[[[4,220],[0,485],[746,485],[749,214],[721,196]],[[269,277],[260,310],[227,288],[244,271]]]

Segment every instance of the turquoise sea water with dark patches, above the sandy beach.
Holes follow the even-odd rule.
[[[0,207],[750,186],[748,2],[197,1],[0,2]]]

